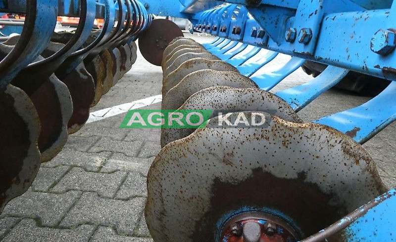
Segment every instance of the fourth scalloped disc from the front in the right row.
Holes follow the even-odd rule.
[[[186,77],[190,73],[204,69],[238,72],[235,67],[220,60],[194,58],[184,62],[175,71],[171,72],[167,77],[162,80],[162,97],[165,97],[166,93],[172,87],[177,85],[177,83],[182,81],[184,77]]]

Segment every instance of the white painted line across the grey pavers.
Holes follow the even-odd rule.
[[[151,104],[159,103],[161,101],[162,101],[162,95],[156,95],[156,96],[136,100],[130,103],[124,103],[121,105],[113,106],[111,108],[101,109],[90,113],[90,118],[88,119],[87,123],[104,120],[109,117],[126,113],[129,110],[144,108]]]

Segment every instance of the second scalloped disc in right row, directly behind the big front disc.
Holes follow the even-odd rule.
[[[219,113],[233,111],[263,111],[287,121],[302,122],[287,102],[278,96],[257,88],[213,86],[191,95],[178,110],[213,110],[211,118]],[[187,137],[195,128],[163,128],[161,146]]]

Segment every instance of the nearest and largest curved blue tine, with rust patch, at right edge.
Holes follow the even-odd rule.
[[[363,144],[396,120],[396,82],[370,101],[324,118],[315,123],[331,126]]]

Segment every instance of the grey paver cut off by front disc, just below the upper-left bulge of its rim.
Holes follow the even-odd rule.
[[[129,172],[115,198],[130,199],[136,196],[147,197],[146,177],[138,172]]]

